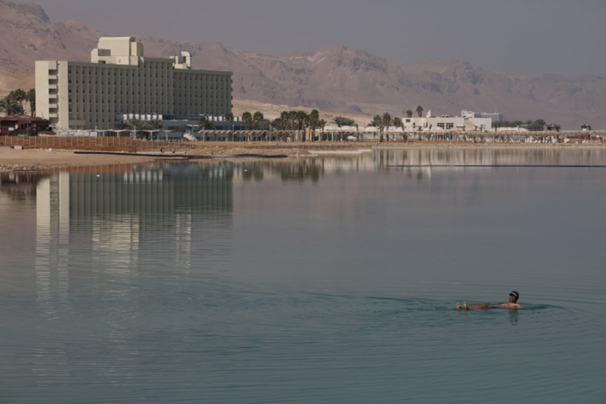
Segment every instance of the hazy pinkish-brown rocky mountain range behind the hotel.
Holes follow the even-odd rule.
[[[27,87],[19,83],[33,85],[36,60],[90,61],[90,51],[105,35],[113,33],[79,21],[52,23],[39,5],[0,0],[0,94]],[[585,123],[606,128],[606,79],[598,76],[510,75],[440,59],[403,64],[345,47],[261,55],[220,43],[133,36],[144,44],[145,55],[187,50],[194,68],[233,71],[238,98],[370,116],[386,111],[404,116],[417,105],[435,115],[496,110],[511,121],[542,118],[564,129]]]

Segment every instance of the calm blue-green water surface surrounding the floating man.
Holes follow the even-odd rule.
[[[556,166],[605,164],[1,173],[0,402],[604,403],[606,168]],[[454,310],[511,290],[531,308]]]

